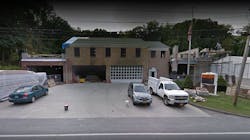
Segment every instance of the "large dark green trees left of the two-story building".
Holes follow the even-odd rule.
[[[73,36],[73,29],[55,15],[49,1],[14,1],[1,6],[0,63],[17,64],[26,50],[61,53],[61,44]]]

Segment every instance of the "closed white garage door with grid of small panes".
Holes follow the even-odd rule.
[[[112,83],[142,82],[142,66],[111,66],[110,80]]]

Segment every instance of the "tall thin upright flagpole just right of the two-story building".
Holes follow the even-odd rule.
[[[188,64],[187,64],[187,75],[190,74],[190,53],[191,53],[191,42],[192,42],[192,28],[194,18],[194,7],[192,7],[192,20],[188,29]]]

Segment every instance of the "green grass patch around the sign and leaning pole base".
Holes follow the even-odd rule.
[[[205,97],[206,102],[193,102],[193,99],[190,101],[193,104],[197,104],[204,107],[213,108],[216,110],[222,110],[239,115],[250,116],[250,100],[238,98],[237,106],[233,106],[232,96],[225,95],[225,93],[219,93],[218,96],[209,96]]]

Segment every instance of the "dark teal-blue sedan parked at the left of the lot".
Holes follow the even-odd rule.
[[[21,86],[9,95],[9,102],[16,103],[33,103],[41,96],[48,95],[48,88],[41,85]]]

